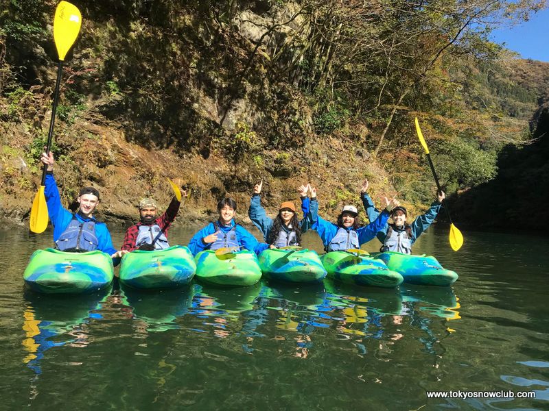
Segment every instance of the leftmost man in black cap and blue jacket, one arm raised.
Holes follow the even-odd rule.
[[[61,204],[59,190],[54,179],[54,154],[42,153],[40,159],[46,164],[44,195],[47,212],[54,225],[54,242],[61,251],[84,252],[100,250],[113,258],[119,258],[128,251],[117,251],[105,223],[97,221],[93,212],[99,203],[99,192],[93,187],[84,187],[78,195],[78,212],[75,214]]]

